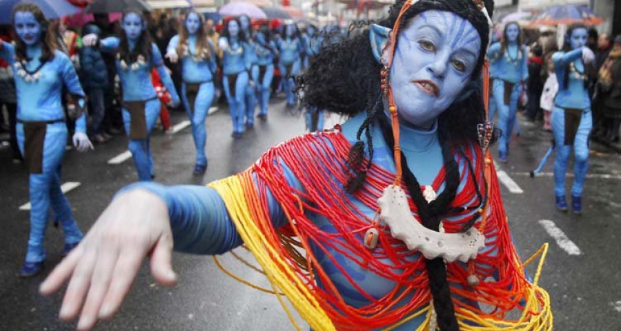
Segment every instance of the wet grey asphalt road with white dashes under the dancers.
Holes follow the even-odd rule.
[[[184,120],[184,114],[172,114],[173,123]],[[328,121],[336,123],[338,119],[333,115]],[[257,121],[242,139],[230,137],[226,109],[210,115],[206,126],[209,169],[202,178],[192,175],[194,147],[189,127],[176,134],[155,133],[156,181],[202,184],[242,171],[270,146],[303,133],[304,119],[292,117],[284,110],[284,102],[275,100],[268,121]],[[501,184],[513,238],[522,259],[544,242],[550,243],[540,284],[551,294],[555,330],[621,330],[621,157],[596,148],[591,153],[584,214],[558,212],[553,205],[553,160],[542,177],[528,176],[551,138],[538,126],[522,121],[522,134],[512,141],[509,163],[499,165],[523,191],[514,193],[515,186],[511,192]],[[112,195],[137,179],[131,159],[107,164],[126,149],[126,139],[116,137],[88,154],[66,153],[63,183],[80,183],[67,197],[85,232]],[[43,277],[61,259],[60,230],[48,227],[45,272],[32,279],[17,277],[28,240],[28,212],[18,209],[28,202],[27,183],[26,170],[11,163],[8,148],[0,148],[0,330],[73,330],[75,324],[57,319],[61,294],[46,298],[37,293]],[[558,232],[553,237],[542,224],[553,224],[564,237]],[[221,261],[245,279],[267,285],[262,275],[230,255]],[[121,312],[97,330],[294,330],[274,297],[230,279],[211,257],[175,254],[173,265],[179,274],[177,287],[155,284],[148,268],[142,268]],[[527,268],[531,274],[534,267],[533,263]],[[308,330],[306,324],[299,323]]]

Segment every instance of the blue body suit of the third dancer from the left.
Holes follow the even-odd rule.
[[[186,113],[192,122],[192,134],[196,147],[196,164],[207,165],[207,155],[205,154],[205,144],[207,142],[207,130],[205,119],[207,112],[213,103],[214,85],[213,73],[217,70],[215,62],[215,50],[210,41],[211,56],[208,59],[197,59],[194,54],[196,51],[196,36],[190,36],[187,40],[188,53],[179,54],[181,58],[183,84],[181,85],[181,99],[184,101]],[[179,35],[175,35],[168,43],[168,52],[177,50],[179,46]],[[195,94],[194,104],[188,100],[188,84],[199,84],[198,92]]]

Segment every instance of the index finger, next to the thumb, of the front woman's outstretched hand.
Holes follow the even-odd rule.
[[[138,252],[137,250],[119,252],[119,260],[115,265],[115,271],[112,273],[110,287],[101,304],[101,310],[99,310],[100,319],[110,319],[117,313],[145,256],[146,252]]]

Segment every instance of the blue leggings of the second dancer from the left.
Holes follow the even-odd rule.
[[[161,103],[158,99],[150,100],[146,102],[144,112],[146,116],[147,124],[147,137],[145,139],[130,139],[129,150],[132,152],[134,158],[134,165],[138,172],[139,181],[151,181],[151,177],[155,176],[155,165],[153,165],[153,154],[150,148],[150,134],[155,121],[159,117],[161,110]],[[123,108],[123,123],[125,125],[125,131],[129,137],[131,117],[128,110]]]

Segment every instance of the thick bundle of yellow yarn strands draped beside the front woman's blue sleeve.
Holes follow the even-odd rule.
[[[311,325],[311,328],[315,330],[336,330],[328,314],[319,305],[311,291],[297,277],[295,270],[282,257],[279,257],[253,221],[248,201],[244,195],[242,179],[239,178],[239,175],[210,183],[209,186],[222,197],[239,236],[242,237],[250,252],[253,253],[263,268],[274,292],[284,293],[300,316]],[[291,316],[282,298],[277,295],[277,299],[286,310],[291,323],[299,330],[299,326],[295,323],[295,319]]]

